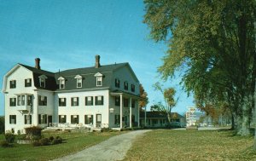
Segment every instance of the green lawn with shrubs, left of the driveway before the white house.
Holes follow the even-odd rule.
[[[62,144],[43,147],[32,147],[32,145],[19,145],[15,147],[0,147],[0,160],[49,160],[59,158],[73,152],[95,145],[101,141],[107,140],[113,135],[119,135],[120,132],[103,133],[44,133],[44,137],[51,135],[60,135],[65,141]],[[0,141],[3,141],[3,135],[0,135]]]

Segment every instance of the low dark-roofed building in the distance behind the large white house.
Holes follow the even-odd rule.
[[[176,127],[185,126],[185,118],[177,112],[172,112],[171,125]],[[166,127],[168,120],[166,114],[162,112],[146,112],[146,124],[145,124],[145,112],[140,112],[140,123],[142,126],[147,127]]]

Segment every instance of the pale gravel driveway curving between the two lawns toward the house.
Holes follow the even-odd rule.
[[[126,152],[130,149],[132,141],[134,141],[137,136],[143,135],[148,131],[149,130],[136,130],[123,135],[113,136],[107,141],[103,141],[96,146],[86,148],[83,151],[74,153],[73,155],[57,158],[54,161],[122,160],[125,158]]]

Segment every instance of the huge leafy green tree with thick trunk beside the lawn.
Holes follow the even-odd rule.
[[[229,103],[241,135],[249,134],[256,76],[256,1],[145,0],[144,22],[169,49],[159,72],[178,71],[201,105]]]

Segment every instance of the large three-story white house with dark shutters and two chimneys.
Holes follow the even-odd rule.
[[[129,63],[48,72],[15,65],[3,78],[5,129],[139,126],[139,81]]]

